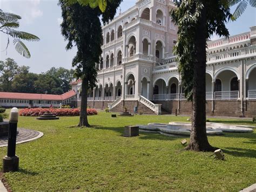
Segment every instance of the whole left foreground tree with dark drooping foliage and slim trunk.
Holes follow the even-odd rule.
[[[68,40],[66,50],[77,46],[77,54],[73,58],[72,66],[76,67],[75,77],[82,80],[82,98],[80,108],[80,119],[78,126],[89,127],[87,120],[87,90],[96,86],[97,71],[95,64],[99,63],[102,54],[102,28],[100,16],[103,23],[113,19],[122,0],[108,0],[106,9],[102,12],[98,7],[94,9],[89,5],[82,6],[79,3],[68,4],[60,0],[63,22],[60,25],[62,35]]]

